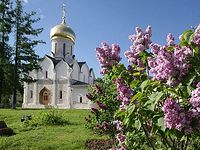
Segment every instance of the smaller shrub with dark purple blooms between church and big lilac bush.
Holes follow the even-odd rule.
[[[94,106],[91,108],[92,115],[86,117],[86,126],[97,133],[104,133],[111,138],[115,137],[114,113],[119,108],[119,101],[116,99],[116,88],[112,86],[112,80],[108,76],[97,79],[90,87],[86,95]]]

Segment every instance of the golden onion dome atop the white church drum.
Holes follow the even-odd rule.
[[[67,38],[71,40],[73,43],[75,42],[76,35],[72,28],[66,25],[65,21],[61,24],[56,25],[51,29],[50,33],[51,40],[55,38]]]

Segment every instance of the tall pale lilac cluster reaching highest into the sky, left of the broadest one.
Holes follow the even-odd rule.
[[[130,35],[129,39],[133,42],[130,46],[130,50],[124,53],[125,57],[128,58],[128,61],[132,64],[135,64],[139,67],[143,67],[143,62],[140,60],[139,55],[141,52],[144,52],[149,48],[151,43],[152,30],[151,26],[146,28],[146,31],[142,31],[141,28],[135,28],[136,34]]]

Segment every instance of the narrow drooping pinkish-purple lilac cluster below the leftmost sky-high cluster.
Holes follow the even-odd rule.
[[[133,96],[133,91],[128,85],[125,84],[122,78],[117,78],[115,83],[117,85],[118,92],[117,99],[122,101],[120,109],[124,110],[130,103],[130,99]]]

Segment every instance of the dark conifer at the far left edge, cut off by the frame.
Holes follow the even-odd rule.
[[[12,31],[13,10],[10,0],[0,2],[0,103],[2,96],[9,95],[11,91],[11,54],[9,34]]]

